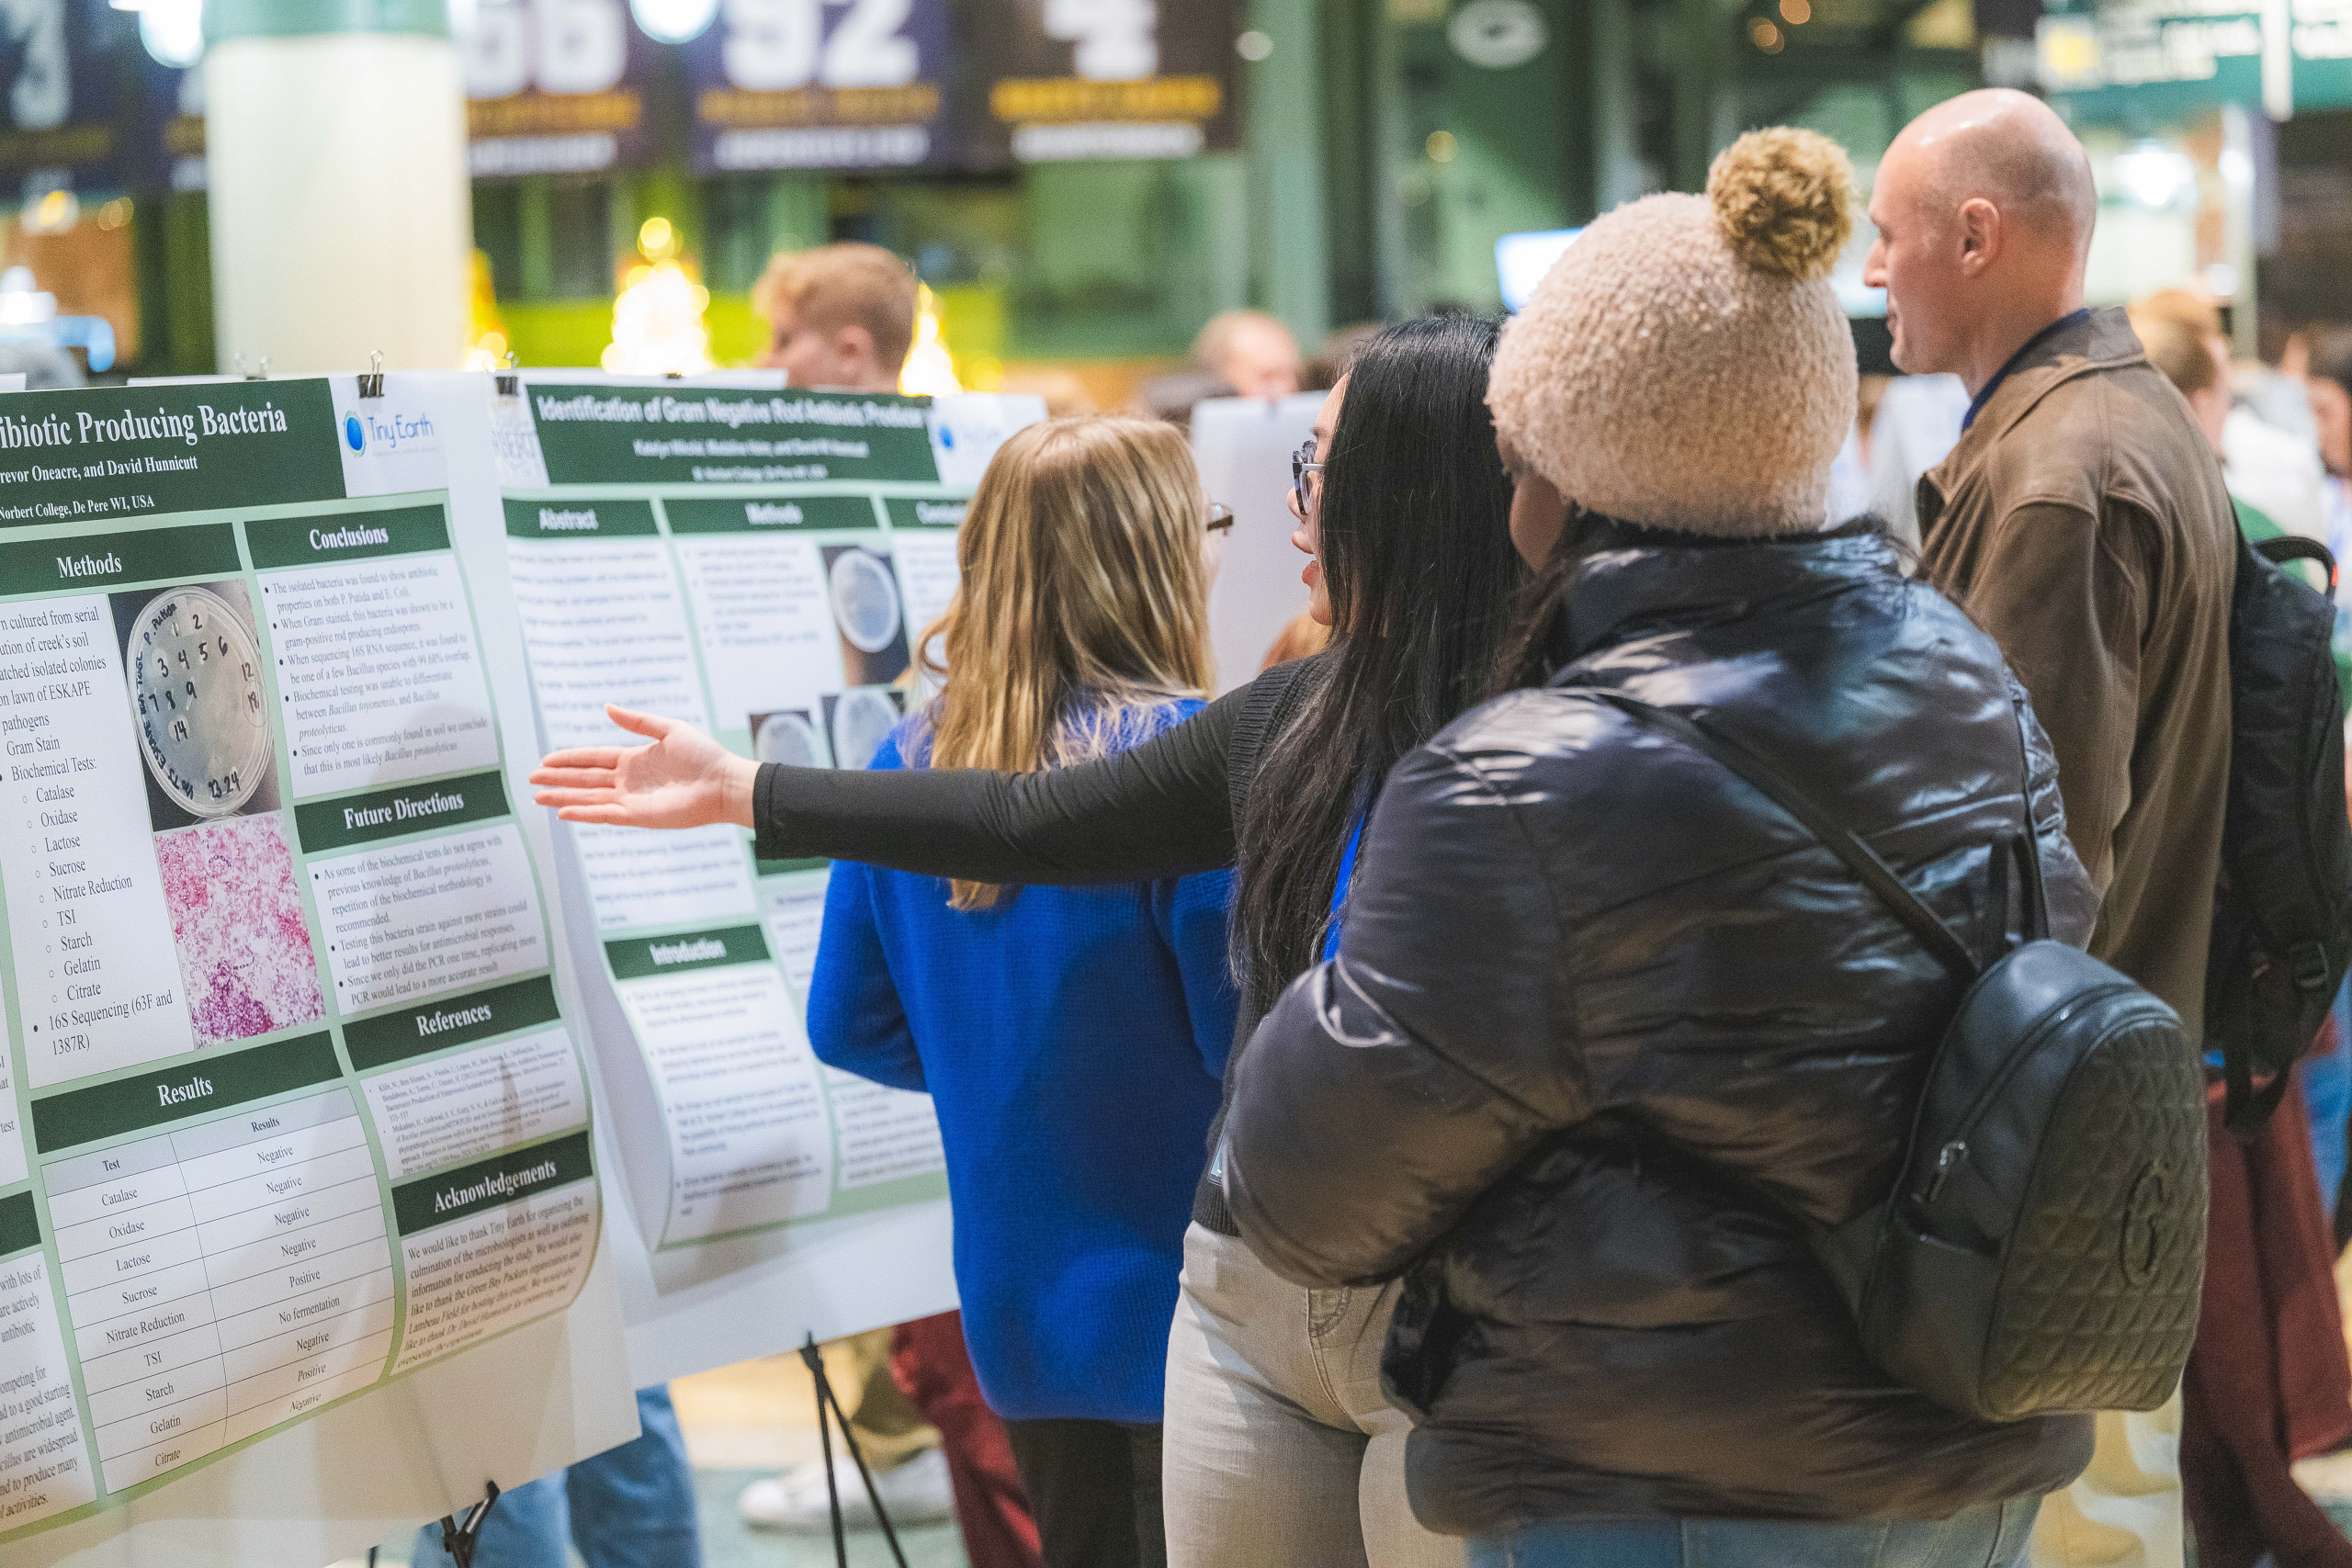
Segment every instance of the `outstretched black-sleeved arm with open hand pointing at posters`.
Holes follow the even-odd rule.
[[[764,860],[863,860],[971,882],[1145,882],[1232,863],[1232,691],[1143,745],[1042,773],[753,764],[691,724],[612,710],[652,745],[553,752],[532,773],[572,823],[760,835]]]

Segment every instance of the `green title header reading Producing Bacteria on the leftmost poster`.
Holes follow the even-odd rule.
[[[322,378],[0,397],[0,527],[341,501]]]

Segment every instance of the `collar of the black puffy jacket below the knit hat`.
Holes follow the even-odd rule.
[[[1870,517],[1769,538],[1670,534],[1613,520],[1583,527],[1592,534],[1552,623],[1555,668],[1637,635],[1743,621],[1771,604],[1898,571],[1893,541]]]

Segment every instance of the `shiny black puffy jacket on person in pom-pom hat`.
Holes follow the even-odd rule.
[[[1940,1519],[2063,1486],[2089,1418],[1985,1425],[1891,1382],[1790,1222],[1891,1182],[1952,980],[1764,797],[1566,689],[1752,743],[1992,957],[2020,924],[1992,846],[2025,823],[1999,651],[1867,524],[1611,529],[1555,637],[1552,686],[1388,776],[1338,959],[1235,1063],[1242,1234],[1301,1284],[1406,1274],[1383,1371],[1435,1530]],[[2030,729],[2079,943],[2096,900]]]

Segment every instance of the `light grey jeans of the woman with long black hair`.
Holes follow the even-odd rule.
[[[1169,1328],[1169,1568],[1463,1568],[1404,1502],[1411,1422],[1381,1396],[1397,1286],[1303,1291],[1195,1225]]]

